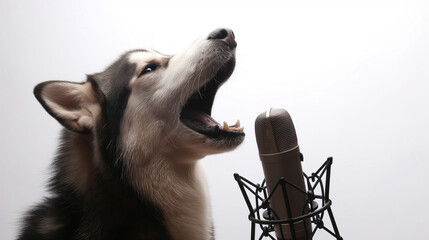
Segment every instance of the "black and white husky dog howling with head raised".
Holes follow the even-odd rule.
[[[37,85],[65,129],[51,194],[18,239],[214,239],[198,160],[244,139],[239,121],[210,116],[236,46],[230,29],[217,29],[174,56],[133,50],[83,83]]]

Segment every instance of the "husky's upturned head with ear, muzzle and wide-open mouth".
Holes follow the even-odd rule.
[[[44,82],[35,95],[67,129],[92,134],[115,159],[196,160],[244,139],[239,122],[211,117],[216,92],[234,70],[236,46],[231,30],[218,29],[176,55],[129,51],[84,83]]]

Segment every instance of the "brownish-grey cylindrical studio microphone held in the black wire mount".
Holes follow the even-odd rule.
[[[275,213],[270,214],[273,220],[285,220],[308,213],[301,154],[289,113],[276,108],[261,113],[255,121],[255,134],[268,193],[271,194],[281,178],[302,190],[285,184],[285,199],[282,187],[277,186],[269,199],[270,207]],[[286,201],[289,201],[289,206]],[[274,230],[277,239],[281,240],[304,240],[307,237],[311,239],[312,236],[309,218],[291,225],[276,224]]]

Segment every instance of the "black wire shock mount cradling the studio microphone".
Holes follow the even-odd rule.
[[[335,222],[335,218],[331,209],[332,201],[329,198],[332,162],[333,158],[329,157],[325,161],[325,163],[310,176],[303,173],[308,189],[307,191],[300,189],[299,187],[288,182],[284,178],[280,178],[271,193],[268,194],[267,187],[265,185],[265,180],[262,181],[262,184],[255,184],[247,180],[246,178],[240,176],[239,174],[235,173],[234,179],[238,183],[238,186],[244,197],[244,201],[246,202],[246,205],[249,210],[248,218],[251,222],[250,239],[256,239],[255,231],[256,225],[258,225],[262,230],[262,233],[259,236],[258,240],[262,240],[264,238],[276,240],[275,234],[273,236],[273,232],[275,229],[274,226],[278,226],[277,231],[280,231],[282,239],[299,240],[296,238],[294,225],[296,223],[308,221],[308,219],[310,219],[313,226],[313,230],[304,227],[306,240],[312,240],[319,229],[328,232],[332,237],[334,237],[334,239],[343,240]],[[305,203],[305,206],[303,208],[303,215],[298,217],[292,217],[288,215],[287,219],[279,219],[278,214],[270,207],[269,200],[271,199],[275,191],[282,191],[282,194],[285,198],[286,209],[290,209],[289,200],[287,199],[286,193],[286,189],[288,187],[293,187],[295,189],[298,189],[302,194],[306,194],[307,203]],[[248,193],[253,196],[254,205],[252,205],[251,197],[249,197]],[[319,204],[321,205],[320,207]],[[329,220],[331,222],[332,229],[329,229],[323,221],[325,212],[327,212],[329,215]],[[289,225],[290,227],[291,238],[285,238],[281,227],[285,224]],[[306,225],[304,224],[304,226]],[[279,233],[277,233],[277,235],[279,235]]]

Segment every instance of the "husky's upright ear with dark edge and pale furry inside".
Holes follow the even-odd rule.
[[[79,133],[94,129],[104,103],[103,93],[91,78],[84,83],[43,82],[34,88],[34,95],[64,127]]]

